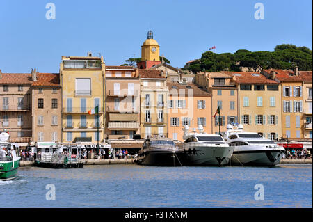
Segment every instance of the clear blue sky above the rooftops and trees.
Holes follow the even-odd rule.
[[[56,19],[47,20],[47,3]],[[255,3],[264,4],[256,20]],[[273,51],[291,43],[312,49],[311,0],[1,0],[2,72],[58,72],[61,56],[101,53],[106,65],[141,56],[152,29],[161,54],[182,67],[209,47],[216,53]]]

